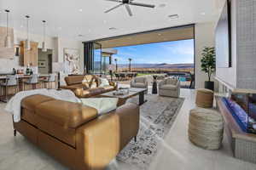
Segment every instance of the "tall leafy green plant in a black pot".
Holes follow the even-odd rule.
[[[211,81],[212,73],[215,72],[215,48],[205,47],[202,52],[201,71],[205,71],[208,81],[205,82],[205,88],[214,90],[214,82]]]

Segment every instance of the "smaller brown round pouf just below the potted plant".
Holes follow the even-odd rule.
[[[195,104],[198,107],[211,108],[213,104],[213,91],[206,88],[197,89]]]

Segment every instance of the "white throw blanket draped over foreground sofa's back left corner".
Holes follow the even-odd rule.
[[[8,104],[5,107],[5,111],[8,111],[12,115],[14,115],[14,122],[20,122],[20,103],[21,100],[35,94],[42,94],[45,96],[49,96],[55,99],[61,99],[69,102],[80,102],[80,99],[77,98],[72,91],[70,90],[55,90],[55,89],[36,89],[30,91],[22,91],[18,94],[15,94],[12,97]]]

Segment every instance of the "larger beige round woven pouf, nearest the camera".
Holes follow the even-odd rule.
[[[218,111],[195,108],[189,115],[189,140],[206,150],[218,150],[222,144],[224,120]]]

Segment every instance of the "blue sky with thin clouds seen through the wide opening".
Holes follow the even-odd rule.
[[[119,64],[128,64],[128,59],[136,64],[183,64],[194,63],[194,39],[176,42],[158,42],[136,46],[115,48]]]

